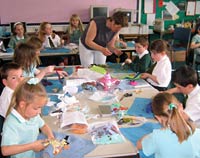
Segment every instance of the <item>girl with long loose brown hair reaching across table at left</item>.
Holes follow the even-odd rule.
[[[54,66],[48,66],[44,69],[37,69],[38,56],[36,55],[34,47],[27,43],[20,43],[14,52],[13,61],[18,63],[23,69],[24,77],[37,77],[41,80],[46,74],[52,73]]]

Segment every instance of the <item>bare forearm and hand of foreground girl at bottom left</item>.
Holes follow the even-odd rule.
[[[37,140],[28,144],[1,146],[1,151],[4,156],[15,155],[29,150],[39,152],[45,148],[44,143],[46,142],[47,140]]]

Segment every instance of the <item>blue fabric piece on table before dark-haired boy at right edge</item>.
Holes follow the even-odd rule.
[[[142,116],[145,118],[154,118],[151,110],[148,111],[148,106],[151,103],[149,98],[135,98],[133,104],[128,109],[128,115]]]

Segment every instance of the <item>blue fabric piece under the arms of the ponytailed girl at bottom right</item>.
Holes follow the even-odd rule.
[[[129,141],[131,141],[136,146],[136,143],[140,138],[146,134],[151,133],[154,129],[159,128],[161,128],[160,124],[148,122],[139,127],[120,128],[120,131]],[[154,158],[154,155],[145,156],[141,150],[139,151],[139,154],[140,158]]]

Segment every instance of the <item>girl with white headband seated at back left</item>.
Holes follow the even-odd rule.
[[[13,36],[10,38],[8,47],[15,49],[16,45],[20,42],[26,42],[28,36],[25,34],[25,28],[23,23],[16,22],[13,25]]]

